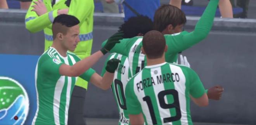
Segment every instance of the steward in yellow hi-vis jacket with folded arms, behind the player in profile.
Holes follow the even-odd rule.
[[[86,5],[86,7],[85,7]],[[93,0],[33,0],[25,17],[26,29],[31,33],[44,32],[45,49],[53,43],[52,22],[57,15],[74,15],[80,21],[80,41],[73,51],[79,58],[84,59],[91,55],[93,41]],[[84,105],[88,81],[78,77],[72,94],[69,111],[69,124],[85,124],[83,120],[84,110],[77,107]],[[76,94],[78,93],[79,94]],[[80,94],[81,93],[81,94]],[[79,102],[78,102],[79,101]],[[73,103],[78,102],[78,103]]]

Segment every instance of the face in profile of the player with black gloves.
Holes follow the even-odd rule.
[[[67,50],[74,51],[76,49],[78,42],[80,42],[79,33],[79,25],[70,27],[68,29],[64,41],[64,46],[67,48]]]

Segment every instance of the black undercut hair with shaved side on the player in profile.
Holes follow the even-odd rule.
[[[61,14],[55,17],[52,23],[53,38],[56,38],[57,33],[67,34],[68,27],[76,26],[80,21],[73,15]]]

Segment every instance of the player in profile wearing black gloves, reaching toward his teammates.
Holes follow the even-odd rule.
[[[122,39],[123,34],[114,34],[100,50],[80,60],[74,51],[79,39],[79,20],[72,15],[59,15],[54,19],[52,46],[38,59],[35,71],[37,110],[32,124],[67,125],[69,102],[78,77],[92,82],[101,89],[111,86],[114,71],[120,60],[107,62],[103,77],[90,68],[100,57]]]

